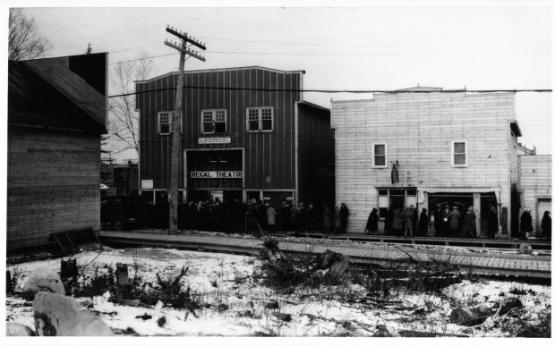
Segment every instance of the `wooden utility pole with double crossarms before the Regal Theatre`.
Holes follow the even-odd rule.
[[[180,145],[181,145],[181,119],[182,119],[182,102],[183,102],[183,89],[184,89],[184,68],[185,68],[185,55],[191,55],[203,62],[206,59],[199,55],[197,52],[190,50],[189,46],[198,46],[202,50],[206,50],[206,47],[201,44],[201,42],[196,39],[190,38],[187,33],[176,31],[169,25],[166,31],[172,35],[175,35],[180,40],[180,44],[166,42],[166,46],[171,46],[179,51],[179,75],[177,78],[177,89],[175,91],[175,112],[172,116],[172,126],[173,126],[173,136],[172,136],[172,162],[170,165],[170,183],[169,183],[169,229],[168,234],[177,234],[177,190],[179,182],[179,156],[180,156]]]

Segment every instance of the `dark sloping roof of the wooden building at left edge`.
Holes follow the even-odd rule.
[[[106,133],[107,55],[8,65],[8,124]]]

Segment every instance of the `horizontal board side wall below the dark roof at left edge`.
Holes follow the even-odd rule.
[[[99,228],[98,135],[10,127],[7,247],[52,241],[51,232]]]

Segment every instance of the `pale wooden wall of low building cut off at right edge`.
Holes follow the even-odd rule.
[[[536,198],[551,198],[551,169],[551,155],[518,156],[520,203],[523,209],[530,210],[534,231],[538,229],[537,221],[541,221],[536,215]]]

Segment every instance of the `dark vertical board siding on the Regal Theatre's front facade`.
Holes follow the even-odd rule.
[[[298,91],[255,91],[248,89],[295,89],[302,85],[303,72],[279,72],[260,67],[185,72],[184,85],[226,89],[186,89],[181,148],[244,148],[244,186],[250,189],[295,189],[295,102]],[[137,82],[139,93],[175,88],[177,73]],[[154,189],[169,187],[172,136],[158,134],[158,112],[175,109],[175,89],[139,94],[141,112],[140,179],[153,180]],[[271,106],[273,131],[249,132],[247,108]],[[201,111],[226,109],[226,136],[230,144],[198,144]],[[219,135],[221,137],[221,135]],[[215,137],[218,137],[216,135]],[[184,156],[180,156],[179,187],[184,188]]]

